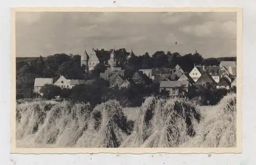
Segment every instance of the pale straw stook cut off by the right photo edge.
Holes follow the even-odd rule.
[[[182,146],[236,147],[236,126],[236,94],[229,94],[200,123],[197,136]]]

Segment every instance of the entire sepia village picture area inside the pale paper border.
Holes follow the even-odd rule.
[[[14,22],[16,148],[237,147],[236,11]]]

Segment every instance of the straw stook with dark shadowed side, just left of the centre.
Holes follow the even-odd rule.
[[[97,105],[92,111],[88,130],[76,147],[119,147],[127,137],[127,119],[120,104],[111,100]]]

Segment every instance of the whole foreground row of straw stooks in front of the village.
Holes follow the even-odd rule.
[[[236,147],[236,94],[216,106],[147,98],[141,107],[115,100],[18,104],[17,147]]]

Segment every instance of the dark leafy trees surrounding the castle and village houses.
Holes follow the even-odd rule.
[[[174,67],[176,64],[179,64],[185,72],[189,72],[194,67],[194,64],[219,65],[220,60],[236,61],[236,57],[203,59],[201,54],[198,52],[181,56],[179,53],[167,52],[165,54],[163,51],[157,51],[152,56],[146,52],[141,56],[132,56],[129,61],[126,61],[126,55],[128,53],[123,49],[118,50],[118,53],[120,54],[120,56],[118,56],[118,64],[125,70],[126,78],[132,77],[135,70],[140,68]],[[17,57],[16,99],[38,97],[38,95],[33,93],[35,78],[53,78],[54,82],[60,75],[65,76],[67,79],[86,79],[86,72],[84,71],[85,68],[80,66],[80,59],[81,56],[72,54],[55,54],[44,58],[41,56],[38,58]],[[89,79],[98,79],[98,83],[103,81],[102,79],[99,79],[98,76],[100,72],[104,72],[106,69],[104,65],[106,60],[108,59],[101,59],[100,63],[91,70]],[[141,84],[141,86],[132,86],[127,89],[112,89],[106,84],[99,85],[98,83],[91,85],[77,85],[75,88],[70,90],[60,90],[54,86],[55,89],[52,90],[55,94],[52,95],[52,93],[48,93],[45,97],[50,99],[58,93],[58,96],[61,96],[62,98],[69,98],[84,102],[95,102],[92,104],[97,104],[97,102],[104,102],[110,98],[115,98],[121,101],[122,104],[137,106],[146,96],[160,95],[157,90],[159,88],[155,85],[151,85],[147,90],[142,90],[145,88],[143,84]],[[50,87],[52,88],[53,86]],[[89,95],[88,92],[91,94]]]

